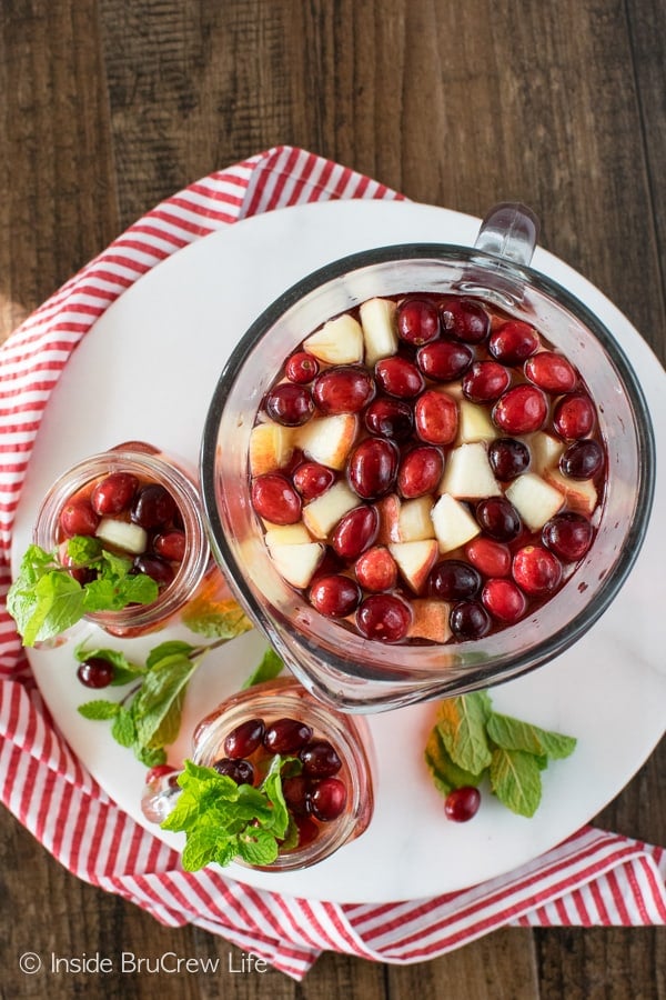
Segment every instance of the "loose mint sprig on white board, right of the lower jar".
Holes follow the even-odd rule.
[[[541,772],[575,747],[574,737],[495,712],[487,691],[475,691],[440,704],[425,762],[443,796],[487,779],[507,809],[532,817],[542,801]]]

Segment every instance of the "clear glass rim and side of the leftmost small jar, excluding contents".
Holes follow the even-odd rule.
[[[95,482],[113,472],[130,472],[140,484],[159,484],[178,508],[179,526],[185,534],[185,551],[175,576],[150,604],[129,604],[118,611],[85,616],[112,636],[130,638],[163,627],[192,597],[211,563],[210,547],[194,476],[170,456],[143,441],[128,441],[109,451],[83,459],[51,487],[39,511],[33,541],[54,551],[62,541],[60,516],[72,497],[84,496]]]

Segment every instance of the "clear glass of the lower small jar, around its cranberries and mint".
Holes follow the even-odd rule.
[[[374,809],[372,749],[365,720],[327,708],[294,678],[278,678],[231,696],[199,722],[192,736],[194,763],[212,767],[220,761],[225,757],[225,738],[241,723],[254,719],[263,719],[266,728],[279,719],[294,719],[311,727],[313,740],[327,740],[342,762],[335,778],[346,788],[346,801],[335,819],[317,821],[307,816],[311,836],[316,827],[313,839],[280,853],[271,864],[252,866],[240,858],[234,863],[260,871],[294,871],[323,861],[360,837]],[[141,806],[151,822],[164,820],[175,804],[180,793],[176,777],[174,771],[157,769],[147,783]],[[316,787],[316,779],[312,787]]]

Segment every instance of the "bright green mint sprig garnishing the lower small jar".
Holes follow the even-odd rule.
[[[236,857],[254,866],[275,861],[290,826],[281,779],[285,762],[275,754],[262,783],[253,788],[184,761],[178,778],[182,791],[161,827],[185,833],[185,871],[211,862],[224,867]]]

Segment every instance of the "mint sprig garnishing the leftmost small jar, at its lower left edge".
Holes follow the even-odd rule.
[[[99,539],[77,536],[68,541],[72,564],[92,570],[94,579],[80,583],[62,566],[58,551],[31,544],[7,594],[7,610],[17,623],[23,646],[53,639],[85,614],[120,611],[128,604],[150,604],[159,594],[157,582],[133,574],[132,560],[102,548]]]

